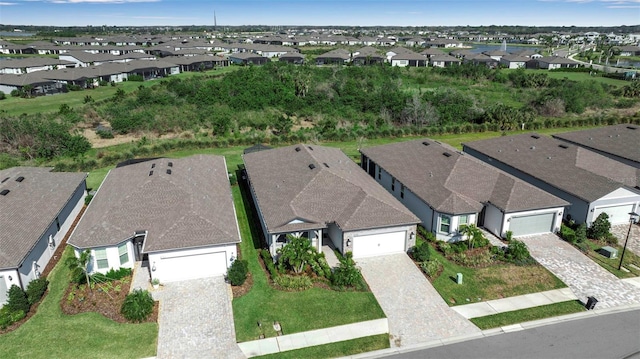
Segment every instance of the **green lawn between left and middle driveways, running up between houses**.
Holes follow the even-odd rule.
[[[242,258],[248,260],[253,277],[249,293],[233,300],[236,339],[239,342],[256,340],[261,334],[275,336],[275,321],[280,323],[282,333],[286,335],[384,318],[384,312],[370,292],[338,292],[321,288],[284,292],[272,288],[258,260],[259,222],[255,219],[251,199],[240,186],[234,186],[232,191],[242,235]]]

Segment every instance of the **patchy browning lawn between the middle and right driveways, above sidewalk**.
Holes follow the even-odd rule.
[[[438,260],[444,268],[432,284],[449,305],[484,302],[566,287],[541,265],[491,264],[484,268],[468,268],[448,261],[435,249],[431,252],[431,258]],[[462,284],[455,281],[457,273],[462,273]]]

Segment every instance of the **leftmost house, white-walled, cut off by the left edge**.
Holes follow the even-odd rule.
[[[87,175],[51,170],[0,170],[0,306],[40,277],[84,205]]]

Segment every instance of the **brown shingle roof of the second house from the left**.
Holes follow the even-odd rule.
[[[115,245],[140,230],[147,253],[239,242],[224,157],[158,158],[111,170],[69,243]]]

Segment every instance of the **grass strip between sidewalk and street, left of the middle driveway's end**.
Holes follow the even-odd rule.
[[[332,344],[318,345],[304,349],[290,350],[288,352],[263,355],[260,359],[324,359],[338,358],[347,355],[365,353],[374,350],[389,348],[389,336],[387,334],[374,335]]]

